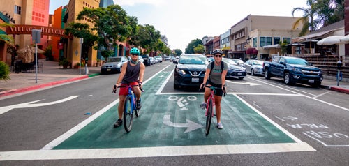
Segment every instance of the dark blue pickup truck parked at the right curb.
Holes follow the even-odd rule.
[[[281,77],[285,84],[309,84],[318,87],[322,82],[322,70],[311,66],[305,59],[292,56],[274,56],[271,62],[265,61],[265,78]]]

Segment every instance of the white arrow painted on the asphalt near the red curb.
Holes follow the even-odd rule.
[[[28,103],[21,103],[21,104],[17,104],[17,105],[8,105],[6,107],[0,107],[0,114],[8,112],[8,111],[10,111],[10,110],[12,110],[14,108],[28,108],[28,107],[41,107],[41,106],[45,106],[45,105],[54,105],[54,104],[57,104],[57,103],[63,103],[65,101],[72,100],[73,98],[77,98],[77,97],[79,97],[79,96],[70,96],[68,98],[64,98],[64,99],[57,100],[57,101],[52,101],[52,102],[49,102],[49,103],[32,104],[32,103],[36,103],[36,102],[42,101],[42,100],[36,100],[36,101],[31,101],[31,102],[28,102]]]

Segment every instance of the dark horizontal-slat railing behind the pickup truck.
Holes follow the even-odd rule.
[[[306,59],[309,63],[312,63],[313,66],[322,69],[323,75],[329,75],[336,77],[337,75],[337,61],[339,60],[338,56],[332,55],[291,55],[288,56],[297,56],[302,59]],[[343,78],[349,78],[349,56],[342,57],[341,71]]]

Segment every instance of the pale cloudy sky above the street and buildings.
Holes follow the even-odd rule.
[[[50,14],[69,0],[50,0]],[[306,0],[114,0],[138,24],[150,24],[168,38],[171,50],[185,48],[194,39],[220,36],[248,15],[289,16],[306,7]],[[303,13],[295,13],[301,17]]]

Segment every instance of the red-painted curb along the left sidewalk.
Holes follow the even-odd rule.
[[[100,75],[100,73],[95,73],[95,74],[91,74],[91,75],[84,75],[84,76],[80,76],[80,77],[74,77],[74,78],[70,78],[67,80],[59,80],[56,82],[49,82],[49,83],[45,83],[45,84],[39,84],[39,85],[35,85],[35,86],[30,86],[30,87],[25,87],[25,88],[21,88],[21,89],[11,89],[8,91],[1,91],[0,92],[0,98],[1,97],[5,97],[5,96],[10,96],[10,95],[14,95],[16,93],[23,93],[23,92],[27,92],[27,91],[34,91],[36,89],[41,89],[41,88],[45,88],[47,86],[54,86],[57,84],[64,84],[66,82],[73,82],[73,81],[77,81],[77,80],[82,80],[88,77],[94,77],[96,75]]]

